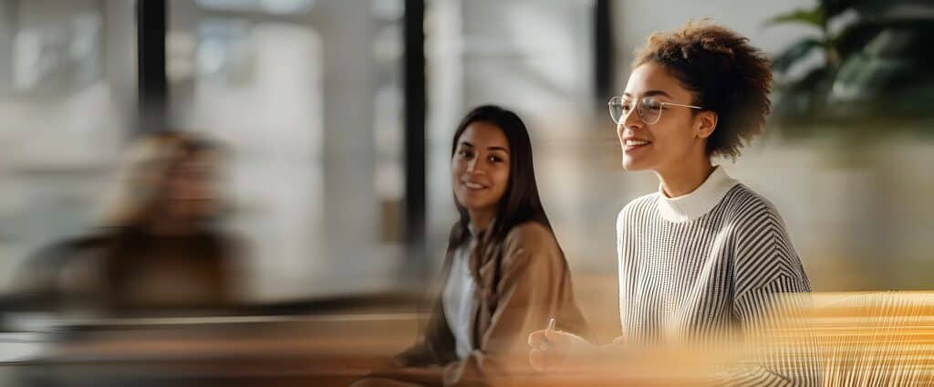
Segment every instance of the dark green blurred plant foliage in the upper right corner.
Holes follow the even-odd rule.
[[[773,58],[771,120],[785,136],[864,136],[879,125],[934,132],[934,1],[818,0],[766,22],[783,24],[817,33]],[[791,77],[815,51],[823,62]]]

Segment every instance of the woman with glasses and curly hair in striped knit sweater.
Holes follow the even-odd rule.
[[[769,65],[747,38],[688,22],[650,36],[626,90],[610,100],[624,169],[650,170],[659,181],[657,193],[617,217],[622,336],[615,350],[751,336],[769,324],[774,296],[811,291],[776,208],[712,163],[735,160],[763,132]],[[552,329],[532,333],[529,344],[539,369],[610,349]],[[730,368],[723,382],[811,385],[818,377],[810,362],[778,355]]]

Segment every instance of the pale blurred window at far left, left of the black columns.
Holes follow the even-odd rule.
[[[0,288],[98,215],[134,119],[130,1],[0,2]]]

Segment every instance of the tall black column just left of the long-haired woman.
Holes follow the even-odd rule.
[[[426,258],[426,168],[425,168],[425,2],[405,0],[404,65],[405,93],[405,245],[409,262]]]

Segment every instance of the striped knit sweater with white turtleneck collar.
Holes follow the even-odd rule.
[[[722,167],[693,193],[668,198],[659,189],[633,200],[619,212],[616,236],[620,343],[742,334],[766,323],[771,295],[811,291],[778,212]],[[815,384],[807,368],[802,380],[761,364],[733,381]]]

